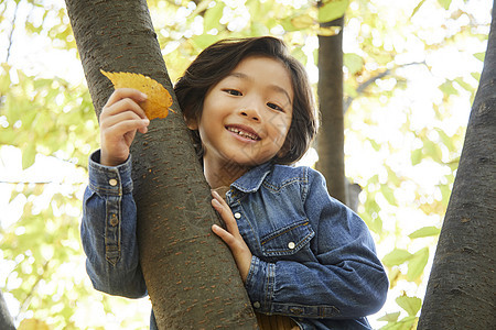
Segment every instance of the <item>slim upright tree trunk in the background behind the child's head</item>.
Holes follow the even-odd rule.
[[[319,132],[316,168],[324,175],[331,196],[346,204],[343,113],[343,24],[344,18],[322,26],[341,26],[338,34],[319,36]]]

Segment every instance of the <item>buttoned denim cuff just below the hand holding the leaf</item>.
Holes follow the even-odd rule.
[[[122,196],[132,191],[131,155],[118,166],[100,164],[100,151],[94,152],[88,161],[89,189],[98,195]]]

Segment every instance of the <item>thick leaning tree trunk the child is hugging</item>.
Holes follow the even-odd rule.
[[[112,92],[107,72],[140,73],[173,95],[144,0],[66,0],[97,116]],[[160,329],[254,329],[256,319],[174,98],[131,146],[140,263]]]

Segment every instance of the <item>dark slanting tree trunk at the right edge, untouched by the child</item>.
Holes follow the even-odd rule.
[[[496,19],[418,329],[496,324]]]

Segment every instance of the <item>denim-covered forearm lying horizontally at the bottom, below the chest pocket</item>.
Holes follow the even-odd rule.
[[[254,256],[246,287],[259,312],[351,319],[380,309],[388,280],[380,263],[268,263]]]

